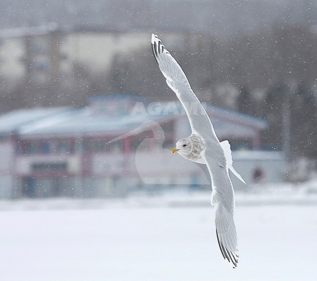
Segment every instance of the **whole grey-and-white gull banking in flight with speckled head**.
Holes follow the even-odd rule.
[[[157,35],[152,34],[152,50],[167,85],[176,93],[188,116],[192,134],[179,140],[172,152],[206,164],[211,176],[211,204],[215,206],[216,235],[224,259],[238,265],[238,239],[234,221],[235,198],[229,169],[243,179],[232,166],[229,141],[219,142],[214,127],[194,94],[178,62],[166,50]]]

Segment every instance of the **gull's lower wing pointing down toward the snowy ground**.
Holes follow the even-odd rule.
[[[213,188],[211,204],[215,206],[215,221],[218,244],[224,259],[238,265],[238,239],[234,221],[235,195],[229,178],[228,169],[214,161],[217,153],[210,145],[206,145],[204,160],[207,164]]]

